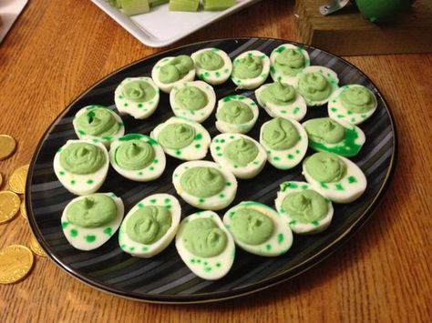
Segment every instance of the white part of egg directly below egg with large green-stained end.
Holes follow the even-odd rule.
[[[306,170],[303,161],[303,176],[314,189],[324,197],[330,198],[335,203],[350,203],[361,197],[365,192],[367,181],[365,174],[356,166],[354,162],[343,156],[341,158],[346,165],[345,177],[340,181],[332,183],[322,183],[314,179]]]

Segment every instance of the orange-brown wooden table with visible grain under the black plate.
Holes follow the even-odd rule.
[[[293,2],[263,1],[180,44],[257,35],[298,39]],[[179,45],[179,44],[178,44]],[[0,133],[18,150],[3,175],[30,161],[46,127],[108,73],[158,52],[89,1],[31,0],[0,45]],[[348,57],[372,78],[396,118],[398,162],[375,216],[355,238],[298,278],[223,303],[144,304],[99,292],[36,258],[26,280],[0,286],[0,321],[430,321],[432,55]],[[0,247],[26,244],[22,217],[0,226]]]

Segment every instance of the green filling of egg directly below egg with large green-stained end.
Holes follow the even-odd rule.
[[[339,182],[346,175],[345,162],[337,155],[325,152],[306,158],[304,167],[320,183]]]

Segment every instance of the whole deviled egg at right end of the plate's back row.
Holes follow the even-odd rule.
[[[296,76],[303,68],[311,65],[309,54],[301,47],[283,44],[276,47],[270,56],[270,75],[274,82],[294,86]]]

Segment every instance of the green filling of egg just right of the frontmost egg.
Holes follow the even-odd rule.
[[[246,245],[261,245],[273,235],[274,224],[270,217],[262,212],[242,207],[234,211],[231,217],[231,233]]]

